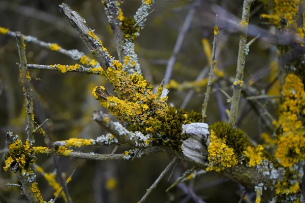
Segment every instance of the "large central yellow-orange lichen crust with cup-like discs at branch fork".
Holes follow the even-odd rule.
[[[131,122],[145,121],[150,116],[156,116],[156,113],[162,114],[166,111],[167,97],[161,98],[162,87],[160,91],[153,94],[151,92],[153,87],[142,75],[136,73],[127,75],[121,70],[123,66],[117,60],[112,61],[112,66],[108,67],[106,74],[117,97],[98,97],[101,100],[101,106],[107,108],[120,120]],[[93,94],[95,96],[95,92]]]

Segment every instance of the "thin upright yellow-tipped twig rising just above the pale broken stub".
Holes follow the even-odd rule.
[[[203,123],[204,123],[204,119],[206,117],[207,103],[208,103],[209,94],[210,94],[211,86],[212,86],[212,78],[213,78],[213,73],[214,73],[214,67],[215,67],[215,64],[216,64],[215,51],[216,51],[217,36],[218,36],[217,17],[218,17],[218,15],[216,14],[215,27],[214,27],[214,40],[213,40],[213,48],[212,48],[212,62],[211,62],[210,72],[209,72],[209,75],[208,75],[208,83],[207,83],[207,86],[206,86],[206,92],[205,92],[205,97],[204,97],[204,101],[203,101],[203,104],[202,104],[202,111],[201,111],[202,122]]]

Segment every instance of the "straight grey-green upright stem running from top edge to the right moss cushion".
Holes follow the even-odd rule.
[[[233,96],[231,101],[231,108],[230,108],[230,117],[229,123],[235,125],[237,113],[238,113],[238,105],[240,99],[240,92],[241,92],[241,82],[243,78],[243,69],[245,68],[245,61],[246,61],[246,45],[247,45],[247,31],[248,31],[248,23],[249,23],[249,15],[250,15],[250,7],[254,0],[244,0],[243,1],[243,8],[242,8],[242,17],[241,17],[241,29],[242,31],[239,34],[239,48],[238,48],[238,58],[237,58],[237,68],[236,68],[236,76],[235,82],[239,84],[234,84],[233,89]],[[235,83],[234,82],[234,83]]]

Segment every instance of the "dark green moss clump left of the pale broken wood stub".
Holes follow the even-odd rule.
[[[150,117],[134,127],[143,134],[152,134],[151,142],[154,142],[155,145],[164,145],[174,151],[181,151],[182,141],[189,138],[188,134],[181,134],[182,124],[200,122],[201,119],[201,114],[197,112],[192,111],[188,114],[183,109],[169,107],[165,115]]]

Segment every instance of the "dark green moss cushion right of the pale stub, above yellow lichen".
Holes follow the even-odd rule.
[[[224,139],[226,145],[232,148],[238,156],[242,155],[243,151],[252,145],[245,132],[225,122],[214,123],[209,126],[209,130],[214,130],[216,136]]]

